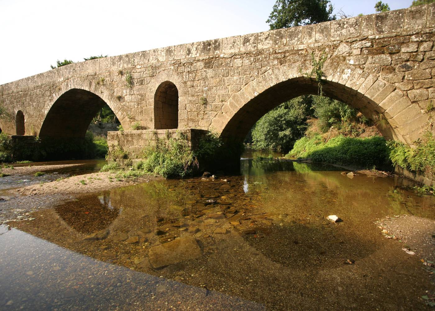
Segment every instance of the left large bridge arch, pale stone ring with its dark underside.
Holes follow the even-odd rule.
[[[84,78],[71,78],[56,88],[40,112],[40,136],[84,137],[92,118],[106,103],[123,127],[130,127],[127,113],[108,88]]]

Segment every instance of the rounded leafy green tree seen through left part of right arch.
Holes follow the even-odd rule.
[[[307,117],[312,115],[311,101],[310,95],[300,96],[261,117],[252,130],[254,148],[290,150],[304,136]]]

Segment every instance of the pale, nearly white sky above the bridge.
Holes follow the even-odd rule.
[[[332,0],[335,12],[375,13],[376,0]],[[391,10],[412,0],[384,1]],[[0,0],[0,85],[57,60],[109,56],[269,29],[275,0]]]

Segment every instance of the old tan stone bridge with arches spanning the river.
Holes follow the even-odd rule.
[[[1,85],[0,104],[13,118],[0,128],[83,137],[107,103],[131,152],[144,129],[211,129],[242,140],[272,108],[317,94],[302,72],[311,70],[311,52],[325,51],[325,96],[368,118],[385,116],[382,134],[412,144],[434,131],[427,112],[435,98],[434,29],[429,4],[74,63]]]

